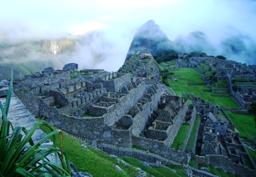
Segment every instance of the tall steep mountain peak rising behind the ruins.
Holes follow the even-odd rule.
[[[161,50],[171,48],[173,48],[173,42],[168,39],[155,21],[149,20],[135,33],[125,61],[135,54],[137,50],[148,49],[148,52],[154,56]]]

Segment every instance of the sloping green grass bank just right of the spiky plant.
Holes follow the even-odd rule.
[[[49,133],[45,126],[40,127],[45,133]],[[60,147],[60,136],[56,136],[56,144]],[[77,171],[83,171],[91,174],[92,176],[136,176],[138,172],[134,168],[125,166],[119,163],[117,159],[107,156],[106,153],[100,153],[94,148],[88,147],[88,150],[82,148],[82,144],[72,138],[71,136],[63,133],[64,152],[67,154],[68,159],[74,163]],[[119,172],[114,169],[118,165],[125,173]]]

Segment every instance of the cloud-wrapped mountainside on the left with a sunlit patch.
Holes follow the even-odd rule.
[[[111,46],[97,31],[59,39],[0,40],[0,78],[10,78],[11,68],[17,77],[47,67],[62,69],[70,62],[79,69],[95,69],[109,57]]]

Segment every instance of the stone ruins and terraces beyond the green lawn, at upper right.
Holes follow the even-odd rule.
[[[201,72],[201,78],[205,82],[211,80],[211,75],[207,71],[216,72],[217,80],[220,80],[220,83],[210,82],[207,86],[211,87],[211,84],[214,84],[216,87],[220,87],[219,89],[212,88],[213,93],[232,94],[244,109],[250,109],[251,103],[256,102],[255,66],[214,57],[187,57],[176,63],[178,67],[190,67]],[[235,87],[237,87],[237,91],[234,91]]]

